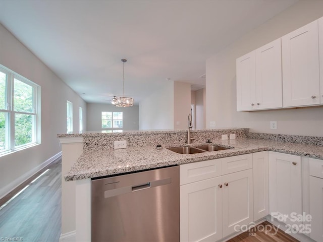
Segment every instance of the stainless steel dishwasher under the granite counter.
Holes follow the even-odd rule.
[[[91,181],[92,242],[176,242],[179,223],[179,166]]]

